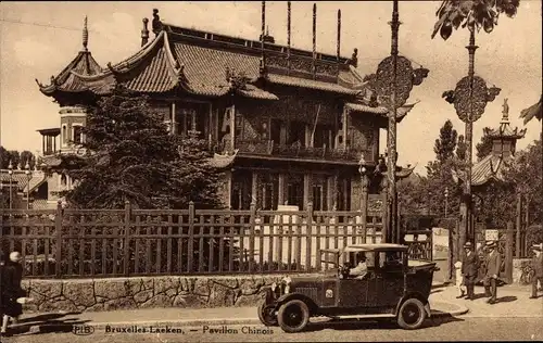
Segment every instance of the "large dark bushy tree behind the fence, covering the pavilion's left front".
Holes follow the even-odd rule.
[[[62,193],[76,207],[217,207],[219,172],[197,138],[169,135],[149,99],[117,87],[88,109],[85,156],[63,157],[76,187]]]

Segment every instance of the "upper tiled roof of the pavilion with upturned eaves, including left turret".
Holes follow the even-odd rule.
[[[262,71],[262,52],[265,72]],[[116,84],[143,93],[182,90],[189,94],[222,97],[239,96],[277,100],[262,86],[276,84],[355,96],[354,86],[362,77],[353,72],[349,60],[291,49],[292,69],[287,69],[287,48],[261,41],[227,37],[173,25],[163,25],[159,35],[134,55],[101,68],[90,52],[81,51],[51,85],[40,85],[46,96],[54,91],[110,93]],[[88,62],[87,62],[88,61]],[[91,67],[87,67],[90,65]],[[315,66],[317,71],[312,74]],[[233,86],[235,75],[243,78],[242,87]]]

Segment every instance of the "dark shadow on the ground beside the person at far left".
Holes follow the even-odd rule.
[[[90,321],[74,317],[63,318],[77,314],[79,313],[45,314],[23,318],[16,325],[8,328],[7,335],[72,332],[75,326],[81,326]]]

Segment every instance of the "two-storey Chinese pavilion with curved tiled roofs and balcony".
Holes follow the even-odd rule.
[[[154,39],[143,18],[141,49],[106,67],[88,51],[85,28],[77,56],[50,85],[38,82],[61,106],[61,128],[42,131],[47,163],[60,162],[58,136],[60,153],[77,152],[83,105],[122,84],[150,96],[172,135],[199,135],[216,156],[230,156],[222,190],[229,208],[247,209],[252,201],[262,209],[366,206],[361,192],[381,192],[379,130],[388,126],[388,110],[357,73],[357,50],[350,59],[339,54],[340,12],[336,55],[315,49],[316,7],[313,51],[290,47],[290,11],[288,46],[265,33],[264,4],[262,14],[260,40],[250,40],[162,23],[154,10]],[[399,109],[397,122],[413,106]],[[399,167],[397,175],[412,170]]]

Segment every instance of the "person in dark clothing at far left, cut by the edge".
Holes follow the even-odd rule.
[[[2,303],[3,303],[3,316],[2,316],[2,334],[5,333],[8,329],[8,323],[11,319],[12,323],[18,321],[18,316],[23,314],[23,305],[17,301],[21,297],[26,296],[26,292],[21,287],[21,281],[23,278],[23,266],[21,265],[21,253],[12,252],[10,254],[10,259],[5,262],[3,266],[2,276]]]

